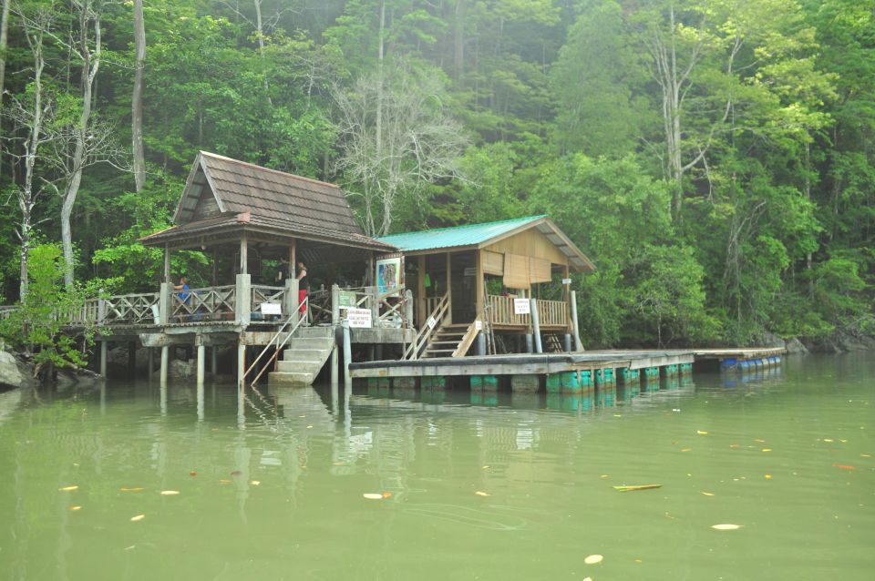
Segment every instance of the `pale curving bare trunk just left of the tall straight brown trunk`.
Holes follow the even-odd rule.
[[[67,189],[64,192],[64,201],[61,204],[61,243],[64,247],[64,284],[67,289],[73,288],[73,235],[70,228],[70,218],[73,215],[73,206],[76,204],[76,197],[79,192],[79,186],[82,183],[82,165],[85,162],[86,154],[86,136],[88,134],[88,123],[91,120],[91,96],[94,88],[94,79],[98,76],[98,68],[100,67],[100,17],[94,15],[94,54],[91,54],[88,47],[88,20],[90,5],[88,2],[83,2],[79,16],[80,23],[80,50],[82,57],[82,115],[79,117],[79,125],[76,129],[76,146],[73,151],[73,173],[67,182]]]

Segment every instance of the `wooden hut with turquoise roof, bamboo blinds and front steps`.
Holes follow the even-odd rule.
[[[498,341],[502,335],[534,335],[537,342],[541,332],[569,338],[576,334],[570,274],[595,267],[547,216],[378,240],[402,251],[407,287],[416,289],[420,332],[407,358],[464,355],[475,337],[487,338],[480,333],[483,329],[489,330],[490,340],[499,333]],[[553,296],[542,298],[542,285]],[[520,305],[522,299],[529,301]],[[501,351],[509,351],[508,346],[489,349]]]

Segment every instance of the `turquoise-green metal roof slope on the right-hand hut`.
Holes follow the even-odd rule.
[[[454,248],[457,246],[474,246],[546,217],[546,214],[541,214],[540,216],[530,216],[529,218],[504,219],[498,222],[485,222],[483,224],[467,224],[452,228],[390,234],[376,240],[391,244],[407,252]]]

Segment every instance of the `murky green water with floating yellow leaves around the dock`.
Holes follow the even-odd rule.
[[[242,416],[228,385],[5,392],[0,578],[868,580],[873,380],[809,357],[603,407],[325,387]]]

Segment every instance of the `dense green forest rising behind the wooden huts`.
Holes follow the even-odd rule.
[[[587,347],[875,332],[875,0],[2,2],[0,303],[156,290],[202,149],[370,235],[549,214]]]

